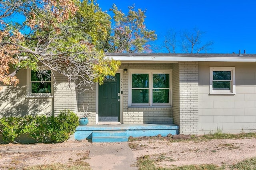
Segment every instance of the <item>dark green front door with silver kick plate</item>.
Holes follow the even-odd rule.
[[[99,86],[99,121],[120,122],[120,73],[106,76]]]

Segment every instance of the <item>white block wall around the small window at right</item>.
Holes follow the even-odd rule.
[[[236,68],[235,95],[209,95],[209,67]],[[256,63],[199,62],[199,133],[256,131]]]

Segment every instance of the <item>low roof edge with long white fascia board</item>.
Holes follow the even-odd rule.
[[[106,53],[106,56],[122,63],[176,63],[178,61],[256,62],[256,54]]]

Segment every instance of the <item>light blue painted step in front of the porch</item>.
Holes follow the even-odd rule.
[[[126,131],[93,131],[92,142],[127,142]]]

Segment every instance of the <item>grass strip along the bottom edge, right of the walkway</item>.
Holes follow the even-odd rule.
[[[156,166],[156,155],[145,155],[137,158],[137,167],[139,170],[255,170],[256,169],[256,157],[246,159],[234,165],[216,166],[214,164],[202,164],[202,165],[186,165],[186,166],[170,166],[168,168]],[[158,156],[160,160],[164,160],[165,155]]]

